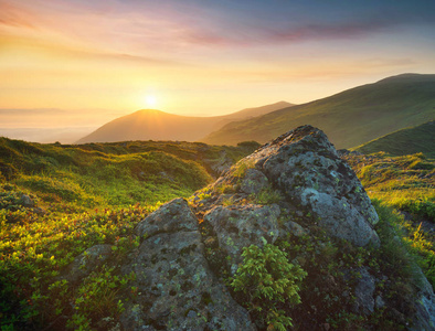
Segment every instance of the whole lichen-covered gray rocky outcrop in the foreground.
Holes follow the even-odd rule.
[[[295,248],[293,252],[298,254],[291,263],[300,261],[304,268],[325,263],[323,269],[317,269],[318,275],[308,275],[318,281],[312,292],[305,293],[311,300],[304,308],[309,310],[308,318],[325,318],[317,310],[327,305],[342,305],[339,311],[362,319],[375,311],[388,311],[391,302],[378,286],[388,277],[375,276],[380,271],[369,264],[361,265],[359,258],[352,261],[351,253],[343,253],[340,263],[331,261],[339,255],[332,243],[353,253],[362,249],[356,246],[379,247],[376,222],[364,189],[325,134],[310,126],[291,130],[241,160],[213,185],[197,192],[191,205],[176,199],[137,225],[135,232],[141,244],[121,267],[124,274],[136,275],[129,284],[135,291],[125,300],[120,325],[124,330],[273,328],[264,319],[258,322],[258,312],[250,316],[242,307],[246,302],[232,297],[224,279],[234,276],[243,263],[244,247],[283,241],[288,241],[283,247]],[[316,237],[318,233],[327,233],[327,239]],[[306,244],[311,237],[317,242]],[[315,261],[321,254],[326,261]],[[344,261],[350,265],[344,266]],[[327,267],[336,268],[331,269],[333,276]],[[388,279],[386,284],[391,281]],[[328,290],[331,296],[320,296]],[[412,307],[414,325],[433,330],[432,288],[423,284],[418,296],[420,302]],[[280,308],[293,309],[288,302]],[[394,309],[391,310],[395,313]],[[396,312],[402,320],[405,313]],[[325,320],[299,322],[301,329],[304,323],[308,330],[330,328]]]

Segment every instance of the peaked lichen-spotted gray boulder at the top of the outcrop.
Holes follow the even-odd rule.
[[[326,135],[311,126],[291,130],[244,159],[296,206],[336,237],[358,246],[380,244],[379,221],[353,170]]]

